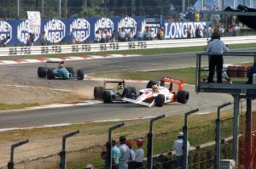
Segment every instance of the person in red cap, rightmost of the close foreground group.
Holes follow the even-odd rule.
[[[144,158],[144,149],[143,149],[143,138],[138,138],[136,140],[137,150],[135,151],[135,169],[143,168],[143,158]]]

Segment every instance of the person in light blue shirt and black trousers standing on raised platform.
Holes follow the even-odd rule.
[[[206,52],[209,54],[209,75],[207,82],[213,82],[213,75],[216,68],[217,82],[222,82],[222,70],[223,70],[223,53],[229,52],[229,48],[224,45],[224,42],[220,41],[220,32],[214,30],[212,33],[212,39],[208,43]]]

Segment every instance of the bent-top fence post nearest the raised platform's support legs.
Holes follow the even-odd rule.
[[[225,104],[221,104],[218,106],[218,116],[217,116],[217,119],[216,119],[216,138],[215,138],[215,141],[216,141],[216,146],[215,146],[215,153],[216,153],[216,157],[215,157],[215,168],[216,169],[219,169],[219,164],[220,164],[220,109],[230,105],[231,102],[229,103],[225,103]]]

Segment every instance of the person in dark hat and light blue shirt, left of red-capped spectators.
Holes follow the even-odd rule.
[[[119,169],[128,169],[128,161],[131,158],[130,149],[125,144],[125,136],[119,137],[119,149],[120,149],[120,159],[119,159]]]

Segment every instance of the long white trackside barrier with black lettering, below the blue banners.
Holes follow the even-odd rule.
[[[225,44],[253,43],[256,36],[222,37]],[[1,48],[0,56],[40,55],[40,54],[72,54],[102,51],[118,51],[147,48],[177,48],[206,46],[207,38],[172,39],[161,41],[85,43],[75,45],[52,45],[34,47]]]

